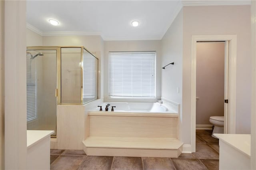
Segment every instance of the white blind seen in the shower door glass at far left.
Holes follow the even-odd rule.
[[[36,61],[27,53],[27,121],[36,119]]]

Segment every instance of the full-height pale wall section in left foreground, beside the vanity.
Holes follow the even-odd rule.
[[[26,169],[26,1],[4,6],[5,169]]]

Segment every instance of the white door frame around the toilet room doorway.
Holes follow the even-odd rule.
[[[191,151],[196,152],[196,43],[204,41],[229,42],[228,68],[228,130],[236,133],[236,35],[195,35],[191,42]],[[224,101],[223,101],[224,102]]]

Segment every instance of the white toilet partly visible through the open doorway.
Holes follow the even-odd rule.
[[[224,133],[224,116],[211,116],[209,121],[214,125],[212,137],[216,138],[214,133]]]

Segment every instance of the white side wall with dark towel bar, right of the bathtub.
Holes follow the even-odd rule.
[[[182,119],[182,54],[183,54],[183,10],[179,12],[174,22],[162,39],[162,99],[168,99],[181,105],[179,136],[187,129],[183,129]],[[179,93],[177,93],[179,88]]]

